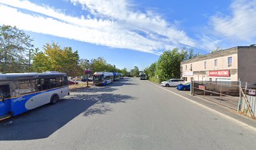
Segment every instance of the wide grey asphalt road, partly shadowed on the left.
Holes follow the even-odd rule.
[[[0,123],[1,150],[255,148],[255,132],[137,78]]]

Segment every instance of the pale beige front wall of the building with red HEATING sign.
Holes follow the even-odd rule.
[[[187,82],[191,82],[191,78],[195,81],[216,81],[216,79],[231,79],[231,81],[238,81],[238,50],[237,47],[232,49],[227,49],[225,51],[220,51],[218,53],[207,54],[205,56],[200,56],[195,59],[189,59],[181,63],[181,75],[182,77],[187,77]],[[232,57],[232,66],[228,66],[228,58]],[[218,65],[215,66],[215,59],[218,60]],[[205,68],[206,61],[206,68]],[[185,72],[189,72],[191,69],[193,76],[184,75]],[[187,69],[186,69],[187,66]],[[230,70],[229,77],[216,77],[216,76],[207,76],[206,71],[218,71],[227,69]]]

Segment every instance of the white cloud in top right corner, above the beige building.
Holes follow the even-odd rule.
[[[217,14],[211,17],[211,24],[220,37],[230,40],[255,41],[256,1],[235,0],[230,6],[232,14]]]

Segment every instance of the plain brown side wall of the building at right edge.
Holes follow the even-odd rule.
[[[256,83],[256,47],[238,49],[238,78],[242,82]]]

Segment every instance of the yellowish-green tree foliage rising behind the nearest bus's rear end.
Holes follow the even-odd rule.
[[[73,52],[72,47],[61,49],[58,43],[46,43],[43,51],[33,56],[33,71],[59,71],[67,73],[68,76],[80,76],[83,70],[79,61],[78,52]]]

